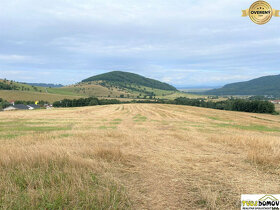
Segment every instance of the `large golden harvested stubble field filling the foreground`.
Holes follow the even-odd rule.
[[[125,104],[0,112],[0,208],[240,209],[280,191],[280,117]]]

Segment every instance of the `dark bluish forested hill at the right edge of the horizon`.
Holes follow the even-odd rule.
[[[204,92],[207,95],[273,95],[280,96],[280,75],[265,76],[247,82],[225,85]]]

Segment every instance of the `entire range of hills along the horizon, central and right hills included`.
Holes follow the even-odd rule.
[[[7,92],[8,91],[8,92]],[[12,92],[15,97],[11,97]],[[40,98],[137,98],[137,99],[172,99],[176,97],[195,97],[194,95],[179,92],[175,87],[155,79],[138,74],[113,71],[89,77],[81,82],[69,86],[45,83],[18,83],[0,79],[0,98],[22,100],[24,94]],[[265,76],[247,82],[237,82],[212,90],[188,90],[197,95],[269,95],[280,97],[280,75]],[[17,94],[19,93],[19,94]],[[39,95],[40,94],[40,97]],[[35,97],[36,95],[36,97]],[[45,97],[45,98],[44,98]],[[51,99],[52,99],[51,98]],[[51,100],[50,100],[51,101]]]

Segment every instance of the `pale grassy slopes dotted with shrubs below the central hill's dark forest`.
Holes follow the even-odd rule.
[[[114,86],[102,86],[100,82],[87,82],[79,83],[75,85],[65,86],[61,88],[45,88],[35,87],[17,82],[4,81],[6,84],[11,84],[17,88],[17,90],[0,90],[0,98],[8,101],[16,100],[44,100],[48,102],[55,102],[62,99],[75,99],[82,97],[99,97],[99,98],[122,98],[128,99],[143,99],[144,96],[148,99],[147,93],[154,93],[156,98],[160,99],[175,99],[177,97],[189,97],[197,98],[201,96],[187,94],[179,91],[166,91],[159,90],[144,86],[128,85],[127,88],[114,87]],[[144,92],[143,92],[144,91]]]

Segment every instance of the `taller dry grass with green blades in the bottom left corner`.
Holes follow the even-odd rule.
[[[102,161],[71,154],[59,143],[51,145],[47,134],[37,137],[38,142],[27,135],[1,146],[1,209],[129,207],[123,188],[103,174]]]

